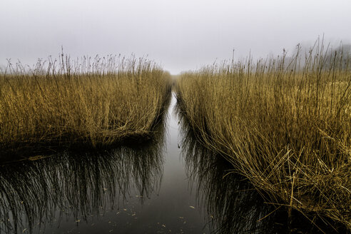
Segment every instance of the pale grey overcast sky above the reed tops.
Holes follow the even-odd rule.
[[[1,0],[0,64],[58,56],[146,56],[176,74],[281,54],[325,35],[351,41],[350,0]]]

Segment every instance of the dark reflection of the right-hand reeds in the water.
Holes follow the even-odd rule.
[[[292,210],[294,218],[290,219],[286,210],[265,203],[248,179],[237,173],[226,175],[232,169],[230,163],[205,148],[180,109],[176,111],[185,171],[193,189],[195,185],[197,207],[207,214],[210,233],[346,233],[340,223],[316,220],[316,225],[311,225],[308,218],[313,215]]]

